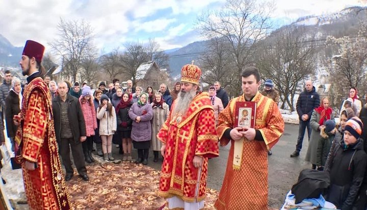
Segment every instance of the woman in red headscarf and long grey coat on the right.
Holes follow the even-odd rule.
[[[312,131],[305,160],[311,162],[312,169],[316,169],[317,148],[321,138],[320,131],[325,127],[325,122],[327,120],[334,120],[334,116],[332,108],[329,107],[329,99],[324,97],[321,100],[320,106],[313,110],[310,119]]]

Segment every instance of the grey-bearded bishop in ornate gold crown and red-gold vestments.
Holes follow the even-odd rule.
[[[208,158],[219,155],[211,100],[198,93],[200,76],[198,66],[182,67],[181,90],[157,134],[164,156],[159,194],[169,209],[204,207]]]

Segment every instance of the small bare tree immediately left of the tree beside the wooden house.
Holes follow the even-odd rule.
[[[119,74],[122,74],[123,66],[120,61],[122,54],[118,48],[114,49],[111,53],[100,57],[100,66],[110,76],[110,81],[115,79]]]

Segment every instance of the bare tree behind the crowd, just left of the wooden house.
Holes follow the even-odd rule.
[[[150,57],[146,53],[146,49],[139,43],[128,43],[125,45],[126,51],[120,57],[125,74],[132,78],[133,84],[137,83],[136,78],[139,76],[137,69],[140,64],[150,61]]]

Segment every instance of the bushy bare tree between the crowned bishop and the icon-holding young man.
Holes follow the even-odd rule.
[[[206,53],[199,59],[203,71],[202,82],[214,84],[219,81],[224,88],[230,85],[231,74],[228,73],[233,69],[231,58],[226,40],[218,37],[208,40]]]

